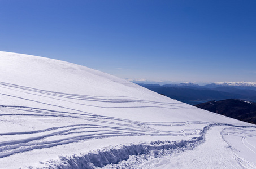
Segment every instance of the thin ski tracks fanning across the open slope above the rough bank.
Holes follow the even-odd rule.
[[[37,95],[42,97],[47,97],[50,99],[58,100],[58,101],[68,101],[63,99],[72,99],[72,100],[86,100],[86,101],[97,101],[97,102],[106,102],[106,103],[131,103],[131,102],[139,102],[139,103],[153,103],[152,101],[147,100],[138,100],[133,98],[127,97],[103,97],[103,96],[85,96],[85,95],[74,95],[74,94],[64,94],[59,92],[51,92],[51,91],[44,91],[38,90],[36,88],[29,88],[18,86],[15,84],[8,84],[8,83],[0,83],[0,87],[3,87],[8,90],[14,90],[17,92],[23,92],[29,95]],[[23,99],[31,102],[36,102],[39,104],[49,105],[49,106],[57,106],[49,103],[44,103],[42,101],[31,100],[24,97],[8,95],[4,93],[0,93],[0,95],[5,95],[8,97],[15,97],[17,99]],[[61,98],[61,99],[59,99]],[[75,102],[72,102],[75,103]],[[77,103],[75,103],[77,104]],[[79,104],[79,103],[78,103]],[[167,108],[182,108],[181,106],[173,106],[170,103],[159,103],[155,102],[155,108],[158,108],[158,105],[169,106]],[[84,104],[83,104],[84,105]],[[90,105],[93,106],[93,105]],[[99,107],[99,106],[97,106]],[[146,108],[149,106],[136,106],[136,108]],[[199,122],[184,122],[184,123],[173,123],[169,122],[170,124],[155,124],[150,122],[138,122],[138,121],[129,121],[127,119],[119,119],[113,117],[107,117],[102,115],[96,115],[93,113],[84,112],[81,110],[66,108],[63,106],[57,106],[57,108],[64,108],[67,109],[67,112],[58,111],[58,110],[50,110],[50,109],[41,109],[41,108],[34,108],[34,107],[27,107],[27,106],[19,106],[19,105],[0,105],[0,109],[9,109],[13,110],[12,112],[16,113],[6,113],[0,114],[0,117],[7,116],[20,116],[20,117],[66,117],[66,118],[80,118],[88,123],[88,121],[97,122],[99,125],[93,124],[77,124],[77,125],[70,125],[70,126],[60,126],[60,127],[51,127],[46,128],[44,130],[37,130],[37,131],[27,131],[27,132],[6,132],[1,133],[1,136],[11,136],[15,135],[15,137],[21,138],[26,135],[28,138],[20,139],[20,140],[11,140],[11,141],[2,141],[0,143],[0,158],[8,157],[15,153],[26,152],[33,149],[41,149],[41,148],[50,148],[51,146],[68,144],[79,140],[86,140],[86,139],[94,139],[94,138],[101,138],[101,137],[113,137],[113,136],[137,136],[137,135],[151,135],[151,136],[175,136],[175,135],[191,135],[194,133],[199,132],[199,129],[196,130],[182,130],[177,132],[171,131],[160,131],[156,130],[151,127],[144,127],[144,126],[180,126],[180,125],[189,125]],[[131,108],[131,107],[124,107],[124,106],[116,106],[116,107],[101,107],[101,108]],[[162,107],[161,108],[166,108]],[[75,110],[75,112],[68,112],[68,110]],[[161,122],[159,122],[161,123]],[[112,125],[112,126],[110,126]],[[93,128],[92,131],[89,129]],[[97,128],[97,131],[95,130]],[[86,131],[84,131],[86,129]],[[58,131],[57,131],[58,130]],[[47,132],[47,134],[45,134]],[[87,134],[87,133],[92,134]],[[40,136],[33,137],[33,134],[40,134]],[[79,134],[77,136],[72,136],[74,134]],[[53,136],[66,136],[63,139],[54,139],[51,141],[44,141],[45,139],[50,139]]]

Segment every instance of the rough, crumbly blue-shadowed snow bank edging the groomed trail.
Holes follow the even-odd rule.
[[[199,137],[193,137],[190,140],[154,141],[150,144],[122,145],[119,149],[111,146],[107,148],[107,150],[97,150],[96,152],[88,153],[83,156],[72,155],[71,157],[59,157],[60,161],[50,161],[47,167],[58,169],[91,169],[104,167],[108,164],[117,164],[120,161],[127,160],[130,155],[153,154],[154,157],[158,157],[158,155],[164,155],[166,151],[174,152],[174,150],[177,150],[179,152],[179,150],[192,150],[205,141],[206,132],[214,126],[256,128],[256,126],[236,126],[233,124],[214,123],[205,126],[203,130],[201,130]]]

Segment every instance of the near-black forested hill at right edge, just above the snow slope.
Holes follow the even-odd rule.
[[[210,112],[256,124],[256,103],[237,99],[209,101],[194,105]]]

